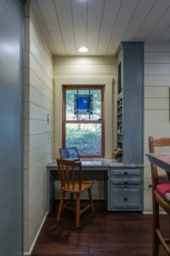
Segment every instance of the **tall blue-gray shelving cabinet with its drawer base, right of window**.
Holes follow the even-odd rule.
[[[114,155],[122,168],[108,172],[108,211],[143,211],[143,43],[123,42],[117,54]]]

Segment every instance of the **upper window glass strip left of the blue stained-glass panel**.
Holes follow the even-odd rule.
[[[77,120],[77,114],[74,114],[74,95],[77,90],[66,90],[66,120]]]

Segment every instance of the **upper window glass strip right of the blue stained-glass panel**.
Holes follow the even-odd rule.
[[[90,90],[90,94],[94,96],[93,114],[90,115],[91,120],[101,119],[101,90]]]

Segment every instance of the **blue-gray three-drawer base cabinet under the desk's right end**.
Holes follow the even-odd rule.
[[[108,211],[143,210],[143,168],[108,171]]]

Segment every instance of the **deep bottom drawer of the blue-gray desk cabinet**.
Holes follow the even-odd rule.
[[[141,205],[140,188],[112,188],[110,196],[111,208],[138,208]]]

